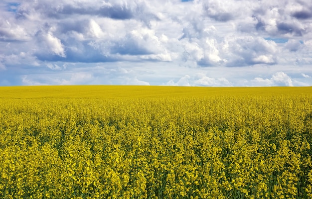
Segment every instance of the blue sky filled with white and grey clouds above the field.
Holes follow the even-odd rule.
[[[312,86],[312,1],[1,0],[16,85]]]

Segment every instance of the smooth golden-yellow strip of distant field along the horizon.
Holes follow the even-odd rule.
[[[0,98],[150,98],[312,95],[312,87],[20,86],[0,87]]]

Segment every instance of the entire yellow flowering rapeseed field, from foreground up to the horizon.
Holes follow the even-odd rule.
[[[312,88],[0,87],[0,198],[312,198]]]

